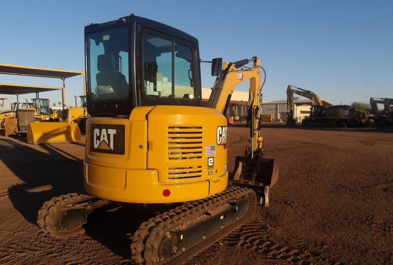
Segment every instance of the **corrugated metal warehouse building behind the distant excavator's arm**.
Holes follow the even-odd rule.
[[[332,102],[329,102],[325,99],[322,99],[323,105],[331,106]],[[294,98],[294,118],[298,118],[298,120],[302,120],[305,117],[310,115],[310,108],[312,105],[312,101],[310,99],[299,99]],[[282,121],[286,121],[288,112],[288,103],[286,101],[266,101],[262,103],[262,114],[270,114],[273,117],[273,121],[277,121],[278,119],[282,119]]]

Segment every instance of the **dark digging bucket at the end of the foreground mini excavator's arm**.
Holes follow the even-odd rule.
[[[244,160],[244,156],[236,157],[233,181],[270,188],[274,186],[279,172],[275,159],[260,158],[252,164],[245,164]]]

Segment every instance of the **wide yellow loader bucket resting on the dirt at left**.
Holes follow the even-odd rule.
[[[29,124],[27,141],[29,144],[79,143],[82,139],[77,123],[40,122]]]

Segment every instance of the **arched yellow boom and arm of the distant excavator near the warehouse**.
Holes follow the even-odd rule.
[[[288,103],[288,117],[286,119],[286,125],[287,126],[296,126],[296,122],[294,121],[294,94],[296,95],[300,95],[302,97],[307,97],[307,99],[311,99],[312,101],[312,105],[315,106],[323,106],[322,100],[320,99],[320,97],[310,91],[310,90],[304,90],[301,88],[297,88],[296,86],[291,86],[288,85],[288,87],[286,88],[286,101]]]

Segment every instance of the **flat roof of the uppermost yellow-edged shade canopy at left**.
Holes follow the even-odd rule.
[[[83,71],[40,68],[13,64],[0,64],[0,73],[8,75],[28,75],[32,77],[51,77],[66,79],[77,75],[84,75]]]

